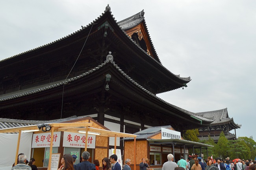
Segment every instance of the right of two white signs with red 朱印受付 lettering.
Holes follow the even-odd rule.
[[[87,148],[95,148],[96,135],[88,135],[87,138]],[[84,148],[85,133],[64,132],[63,146],[71,148]]]

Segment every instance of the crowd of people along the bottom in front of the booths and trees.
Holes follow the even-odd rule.
[[[88,161],[90,158],[89,152],[84,151],[81,156],[81,162],[75,165],[76,158],[76,155],[64,154],[58,170],[99,170],[100,163],[98,160],[94,160],[93,163]],[[213,159],[211,156],[204,160],[201,157],[197,157],[197,155],[192,155],[186,161],[183,156],[180,156],[180,160],[174,162],[173,154],[168,154],[167,159],[168,161],[163,164],[162,170],[256,170],[256,161],[243,159],[231,161],[229,157],[226,159],[221,159],[220,157]],[[11,170],[37,170],[37,166],[34,163],[34,158],[31,158],[28,162],[26,155],[19,154],[17,165],[14,166],[13,164]],[[111,164],[113,164],[112,167]],[[111,155],[110,159],[107,157],[102,159],[102,170],[131,170],[130,165],[131,160],[126,159],[125,164],[121,167],[115,154]],[[140,170],[153,170],[153,168],[149,167],[149,160],[145,158],[142,159],[139,168]]]

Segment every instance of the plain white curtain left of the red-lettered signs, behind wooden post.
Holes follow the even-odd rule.
[[[30,160],[33,132],[21,133],[19,154],[23,153]],[[0,169],[10,170],[15,162],[19,134],[0,133]]]

